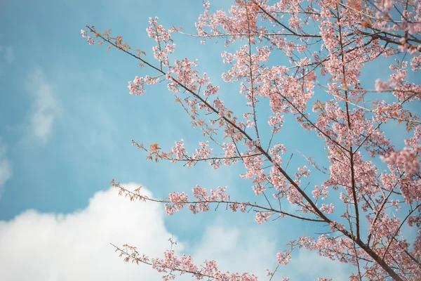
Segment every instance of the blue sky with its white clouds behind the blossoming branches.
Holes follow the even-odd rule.
[[[226,10],[231,3],[211,5],[211,11]],[[115,178],[128,188],[145,186],[144,192],[158,199],[173,191],[189,192],[196,184],[228,186],[236,200],[253,195],[251,184],[239,178],[240,165],[188,169],[145,160],[131,146],[132,138],[166,150],[184,139],[192,152],[203,141],[200,131],[191,128],[164,84],[142,97],[130,96],[127,82],[151,73],[123,53],[88,46],[80,35],[85,25],[112,28],[112,34],[151,55],[154,41],[145,32],[149,17],[194,33],[202,12],[201,1],[187,0],[0,1],[0,280],[161,280],[147,266],[123,263],[109,242],[127,242],[156,257],[170,246],[172,234],[178,240],[176,251],[192,254],[198,263],[217,259],[223,270],[248,271],[268,280],[265,268],[274,269],[276,253],[287,242],[324,231],[289,218],[259,226],[253,214],[225,208],[166,216],[159,204],[129,202],[110,189]],[[222,85],[220,77],[227,70],[220,53],[234,51],[235,44],[224,48],[222,40],[213,40],[203,46],[180,34],[174,39],[174,58],[199,58],[199,72],[220,84],[227,107],[241,112],[238,85]],[[373,88],[375,78],[386,80],[388,65],[387,60],[368,65],[370,75],[363,82]],[[326,163],[323,143],[314,132],[294,128],[286,122],[278,140],[288,148],[286,157],[294,153],[292,169],[304,163],[295,149]],[[384,129],[396,145],[403,145],[403,126]],[[323,179],[319,175],[309,181]],[[343,280],[351,272],[301,250],[279,269],[279,276]]]

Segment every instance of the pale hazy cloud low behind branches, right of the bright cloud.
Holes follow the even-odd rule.
[[[266,268],[276,268],[276,253],[287,249],[281,245],[276,247],[276,237],[267,233],[264,228],[236,228],[224,221],[218,221],[209,226],[201,242],[194,247],[195,261],[215,259],[221,270],[230,272],[254,273],[259,280],[269,280]],[[352,266],[332,261],[319,256],[315,251],[295,249],[293,258],[287,266],[279,266],[274,280],[281,280],[281,276],[290,280],[317,280],[317,277],[327,277],[333,280],[348,280],[352,273]]]

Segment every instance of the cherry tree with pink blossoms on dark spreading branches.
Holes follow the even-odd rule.
[[[192,125],[203,133],[194,153],[187,152],[183,140],[168,150],[157,143],[132,141],[133,146],[154,162],[183,162],[189,167],[208,162],[213,169],[242,164],[246,172],[241,178],[248,180],[262,203],[234,200],[222,187],[207,190],[196,185],[191,192],[172,192],[165,200],[155,200],[142,195],[141,188],[127,190],[114,180],[112,185],[130,200],[163,203],[168,215],[185,207],[198,214],[224,204],[233,212],[254,214],[259,224],[292,217],[314,228],[330,226],[326,233],[302,235],[280,249],[274,256],[278,266],[267,270],[271,280],[298,248],[352,264],[355,270],[349,280],[420,280],[421,122],[416,108],[421,108],[421,86],[407,77],[421,66],[420,2],[236,0],[229,11],[215,12],[209,2],[203,6],[196,34],[166,29],[158,18],[149,18],[154,58],[133,50],[122,37],[112,37],[110,30],[86,26],[81,34],[89,44],[105,43],[139,63],[147,74],[128,82],[131,95],[141,96],[149,86],[166,83]],[[239,85],[245,112],[234,113],[225,105],[220,86],[195,70],[197,60],[176,57],[174,34],[197,37],[203,48],[215,38],[223,39],[225,46],[240,46],[234,53],[222,53],[229,66],[222,79]],[[284,65],[271,57],[286,58]],[[361,83],[366,63],[391,59],[387,81]],[[262,112],[263,103],[271,112]],[[328,168],[320,164],[322,159],[302,157],[326,181],[309,185],[307,166],[287,169],[286,151],[294,149],[282,144],[287,115],[295,118],[297,130],[323,141]],[[395,148],[382,131],[387,123],[408,131],[408,138],[394,136],[405,147]],[[295,211],[282,208],[286,204]],[[404,236],[403,226],[412,231],[412,238]],[[164,280],[180,274],[199,280],[258,280],[252,273],[224,273],[216,261],[196,264],[192,256],[177,256],[172,247],[156,259],[128,244],[115,247],[126,261],[152,266]]]

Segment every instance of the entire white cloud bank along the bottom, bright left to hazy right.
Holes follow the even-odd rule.
[[[139,185],[123,186],[133,190]],[[148,190],[142,192],[152,197]],[[0,221],[0,280],[161,280],[161,273],[150,266],[124,263],[109,242],[128,243],[151,258],[162,257],[171,237],[164,216],[160,204],[130,202],[115,188],[95,193],[86,209],[73,214],[25,211]],[[187,244],[179,243],[175,250],[181,253]],[[276,236],[258,225],[238,228],[217,219],[189,246],[197,265],[215,259],[222,271],[255,273],[260,280],[267,280],[266,268],[276,267]],[[301,250],[288,266],[279,268],[275,279],[286,275],[291,280],[347,280],[345,269]],[[186,274],[177,280],[192,277]]]

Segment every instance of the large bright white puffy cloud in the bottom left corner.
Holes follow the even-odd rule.
[[[163,216],[159,204],[130,202],[115,188],[73,214],[25,211],[0,221],[0,280],[161,280],[149,266],[124,263],[109,242],[161,256],[171,237]]]

